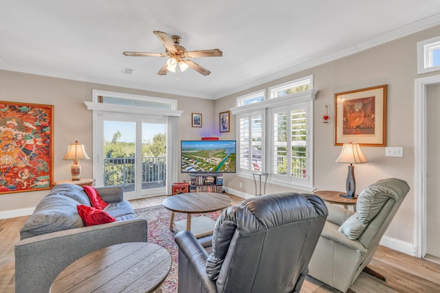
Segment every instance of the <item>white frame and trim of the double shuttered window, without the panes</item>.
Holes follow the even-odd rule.
[[[313,76],[309,75],[305,78],[286,82],[285,84],[278,84],[277,86],[272,86],[270,89],[276,89],[280,86],[285,86],[287,84],[294,84],[294,82],[301,82],[305,80],[310,80],[310,88],[308,91],[302,91],[299,93],[293,93],[290,95],[285,95],[282,97],[276,97],[274,99],[265,99],[262,102],[259,103],[252,103],[244,106],[236,106],[234,108],[230,108],[230,111],[233,115],[236,115],[237,123],[236,123],[236,133],[237,133],[237,143],[239,143],[240,137],[239,137],[239,114],[241,113],[250,113],[252,111],[256,110],[263,110],[263,113],[265,113],[265,119],[263,120],[263,124],[265,127],[263,128],[263,166],[265,166],[265,172],[269,174],[267,178],[267,182],[276,183],[277,185],[284,185],[287,187],[296,187],[297,189],[303,189],[306,191],[313,191],[313,176],[314,176],[314,145],[313,145],[313,139],[314,139],[314,99],[316,97],[316,91],[313,89]],[[269,89],[269,90],[270,90]],[[261,92],[261,91],[259,91]],[[256,92],[254,92],[256,93]],[[254,94],[251,93],[250,95]],[[245,97],[249,97],[249,95],[243,95],[239,98],[243,99]],[[273,169],[273,163],[272,163],[272,141],[270,140],[272,138],[272,119],[270,119],[271,115],[267,115],[267,112],[270,111],[272,108],[277,108],[280,106],[289,106],[289,105],[296,105],[296,104],[302,104],[307,103],[308,105],[308,128],[309,132],[307,134],[307,150],[308,150],[308,174],[307,174],[307,182],[298,182],[298,180],[291,180],[290,178],[288,180],[283,180],[281,178],[276,178],[274,176],[273,172],[271,171]],[[237,105],[239,105],[239,99],[237,99]],[[239,152],[239,147],[237,148],[237,152]],[[240,154],[237,154],[237,158],[239,158]],[[243,176],[247,178],[252,178],[252,174],[249,174],[252,172],[241,172],[240,168],[238,169],[237,175]]]

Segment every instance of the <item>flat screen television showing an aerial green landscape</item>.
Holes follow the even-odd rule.
[[[182,173],[235,173],[235,141],[181,141]]]

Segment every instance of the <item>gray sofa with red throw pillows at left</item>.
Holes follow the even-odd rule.
[[[85,226],[76,206],[90,200],[82,187],[56,185],[37,205],[15,245],[15,292],[44,292],[70,263],[100,248],[125,242],[147,242],[145,219],[135,219],[122,187],[98,187],[104,211],[118,220]]]

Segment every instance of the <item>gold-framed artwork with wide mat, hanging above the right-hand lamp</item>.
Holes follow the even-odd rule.
[[[335,145],[386,146],[386,89],[385,84],[335,94]]]

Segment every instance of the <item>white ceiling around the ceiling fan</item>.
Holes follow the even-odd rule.
[[[0,69],[215,99],[440,25],[440,0],[0,0],[0,15]],[[122,55],[163,53],[154,30],[223,57],[157,75],[166,58]]]

